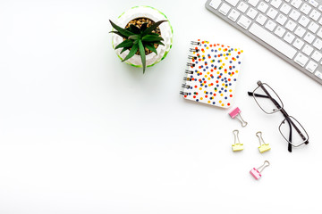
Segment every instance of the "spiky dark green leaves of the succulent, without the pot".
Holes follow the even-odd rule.
[[[162,41],[164,40],[160,35],[154,33],[153,31],[162,24],[164,21],[157,21],[148,27],[148,22],[143,23],[140,28],[131,24],[128,28],[121,28],[114,24],[113,21],[110,21],[112,27],[115,29],[110,33],[117,34],[123,37],[123,42],[115,46],[115,50],[118,48],[123,48],[121,53],[126,50],[130,50],[127,56],[123,59],[122,62],[130,59],[137,51],[140,52],[140,58],[143,67],[143,73],[146,70],[146,52],[145,48],[148,48],[153,53],[157,54],[157,49],[155,44],[164,45]]]

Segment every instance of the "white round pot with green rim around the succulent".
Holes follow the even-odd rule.
[[[115,24],[124,28],[127,25],[127,23],[129,23],[131,20],[141,18],[141,17],[148,18],[155,22],[166,20],[161,25],[159,25],[159,28],[161,31],[161,37],[163,37],[164,39],[162,43],[165,45],[157,46],[157,54],[149,53],[146,56],[147,67],[150,67],[157,64],[157,62],[160,62],[161,60],[165,59],[166,54],[169,53],[173,44],[173,29],[170,25],[170,22],[167,21],[167,18],[164,13],[159,12],[157,9],[149,6],[132,7],[130,10],[123,12],[118,17],[118,20],[115,21]],[[119,45],[121,42],[123,42],[123,37],[113,34],[112,36],[113,48],[115,48],[115,46]],[[122,48],[115,50],[118,57],[121,60],[123,60],[125,56],[129,53],[129,51],[127,50],[123,53],[121,53],[121,51],[122,51]],[[135,54],[125,62],[135,67],[142,67],[140,55],[137,55],[137,54]]]

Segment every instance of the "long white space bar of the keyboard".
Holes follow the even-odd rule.
[[[283,53],[288,58],[292,59],[297,52],[296,49],[292,48],[291,45],[288,45],[281,39],[276,39],[274,35],[272,35],[269,31],[266,29],[263,29],[260,27],[257,23],[254,23],[250,27],[250,33],[254,36],[260,38],[264,42],[266,42],[268,45],[271,45],[274,47],[277,51],[280,53]]]

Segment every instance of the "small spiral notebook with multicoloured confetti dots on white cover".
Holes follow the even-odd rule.
[[[242,65],[240,48],[205,40],[191,41],[181,95],[185,99],[229,108]]]

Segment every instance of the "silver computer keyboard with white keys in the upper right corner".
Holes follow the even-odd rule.
[[[322,0],[208,0],[206,7],[322,84]]]

